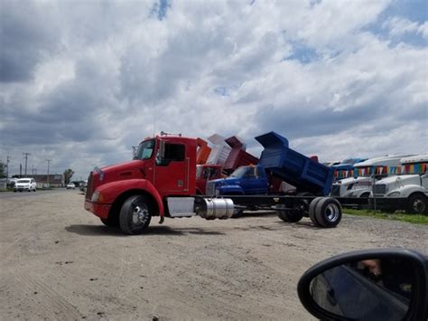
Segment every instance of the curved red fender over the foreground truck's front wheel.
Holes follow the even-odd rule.
[[[159,215],[163,217],[164,208],[162,197],[157,192],[154,185],[145,179],[127,179],[124,181],[102,184],[96,189],[100,194],[100,200],[98,200],[98,202],[109,204],[114,203],[118,195],[124,194],[129,190],[143,190],[144,192],[151,194],[158,205]]]

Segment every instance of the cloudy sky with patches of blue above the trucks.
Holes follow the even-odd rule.
[[[161,130],[276,131],[321,160],[428,151],[425,0],[0,3],[10,174],[132,157]]]

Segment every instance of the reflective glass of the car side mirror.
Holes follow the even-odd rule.
[[[360,260],[328,269],[311,282],[324,310],[355,320],[402,320],[414,285],[414,268],[402,259]]]

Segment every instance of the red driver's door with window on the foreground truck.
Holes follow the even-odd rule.
[[[186,146],[160,142],[154,165],[154,185],[162,195],[189,192],[189,163]]]

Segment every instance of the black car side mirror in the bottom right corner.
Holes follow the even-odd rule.
[[[297,291],[322,320],[426,320],[427,267],[413,250],[359,250],[308,269]]]

